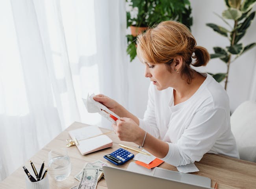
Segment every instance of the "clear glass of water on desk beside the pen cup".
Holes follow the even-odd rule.
[[[49,174],[57,181],[65,180],[71,172],[71,163],[64,148],[51,150],[48,154]]]

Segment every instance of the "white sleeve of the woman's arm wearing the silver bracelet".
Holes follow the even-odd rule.
[[[169,151],[163,161],[174,166],[200,161],[223,133],[225,117],[226,111],[220,108],[196,112],[177,143],[168,143]]]

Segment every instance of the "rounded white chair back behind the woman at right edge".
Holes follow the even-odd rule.
[[[239,105],[230,117],[240,159],[256,162],[256,102]]]

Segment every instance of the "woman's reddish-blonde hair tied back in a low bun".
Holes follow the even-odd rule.
[[[142,61],[152,64],[165,63],[171,72],[172,60],[182,56],[183,64],[179,70],[181,76],[187,76],[187,83],[194,78],[192,65],[195,67],[205,66],[210,55],[206,48],[197,46],[197,42],[189,29],[176,21],[165,21],[149,28],[145,33],[137,37],[137,55]]]

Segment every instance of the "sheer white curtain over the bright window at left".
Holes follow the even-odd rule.
[[[87,93],[127,106],[125,15],[118,0],[0,2],[0,180],[74,121],[110,128]]]

